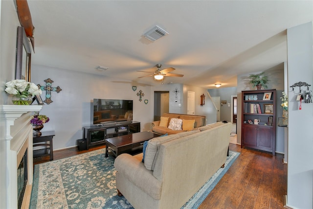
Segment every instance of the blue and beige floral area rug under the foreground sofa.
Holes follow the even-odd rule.
[[[240,153],[229,151],[220,168],[182,207],[196,209]],[[30,209],[133,209],[117,195],[113,158],[105,149],[36,164]]]

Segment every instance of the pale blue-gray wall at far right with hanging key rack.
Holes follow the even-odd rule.
[[[296,101],[299,87],[306,82],[313,87],[312,22],[287,30],[288,43],[288,186],[287,205],[291,208],[313,208],[313,103]],[[301,88],[305,90],[305,87]],[[303,93],[303,92],[302,92]]]

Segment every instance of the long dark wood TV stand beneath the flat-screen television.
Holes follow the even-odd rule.
[[[140,132],[138,121],[115,121],[83,127],[86,148],[105,144],[105,139]]]

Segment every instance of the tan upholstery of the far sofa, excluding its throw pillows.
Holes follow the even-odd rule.
[[[175,113],[164,113],[161,116],[161,119],[163,119],[162,117],[163,118],[168,118],[168,122],[166,123],[166,125],[162,125],[162,124],[160,125],[161,120],[153,121],[152,124],[151,124],[152,125],[152,132],[155,132],[155,133],[161,134],[161,135],[167,133],[168,135],[170,135],[170,134],[177,134],[177,133],[180,133],[180,132],[187,131],[187,130],[172,130],[172,129],[169,129],[168,126],[170,124],[171,118],[179,118],[179,119],[182,119],[183,122],[184,122],[184,120],[195,120],[193,129],[194,128],[199,128],[201,126],[205,126],[205,123],[206,123],[205,116],[194,116],[194,115],[184,115],[184,114],[175,114]],[[182,125],[184,125],[184,124],[182,124]]]

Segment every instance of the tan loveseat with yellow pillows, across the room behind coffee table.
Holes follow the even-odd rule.
[[[181,129],[173,130],[170,127],[171,119],[178,118],[182,120]],[[206,123],[205,116],[194,116],[194,115],[185,115],[185,114],[175,114],[175,113],[164,113],[161,116],[161,120],[152,122],[152,132],[157,134],[177,134],[184,131],[191,131],[195,128],[204,126]],[[175,126],[176,127],[176,126]],[[175,128],[174,128],[175,129]]]

